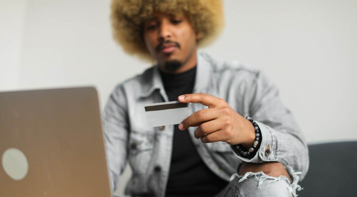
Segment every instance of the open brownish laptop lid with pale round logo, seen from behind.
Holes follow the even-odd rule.
[[[0,92],[1,197],[111,197],[93,87]]]

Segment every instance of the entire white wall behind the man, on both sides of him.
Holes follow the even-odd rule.
[[[0,0],[0,91],[94,85],[103,107],[149,66],[114,43],[109,4]],[[204,50],[264,70],[308,142],[357,140],[357,1],[226,0],[225,10]]]

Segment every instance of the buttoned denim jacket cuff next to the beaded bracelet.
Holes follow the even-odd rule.
[[[258,151],[253,158],[246,158],[240,155],[235,145],[231,145],[234,155],[245,162],[262,163],[265,161],[275,161],[276,135],[270,127],[261,122],[255,121],[260,128],[262,140]]]

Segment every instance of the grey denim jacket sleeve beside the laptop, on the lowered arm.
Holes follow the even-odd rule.
[[[129,123],[124,89],[117,86],[109,97],[102,115],[104,140],[111,188],[116,191],[127,162]]]

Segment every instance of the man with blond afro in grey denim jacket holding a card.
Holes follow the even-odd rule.
[[[296,195],[307,146],[276,87],[197,52],[219,33],[221,1],[113,0],[112,24],[126,52],[155,61],[117,86],[104,110],[114,190],[129,162],[134,196]],[[176,100],[189,117],[148,127],[145,104]]]

